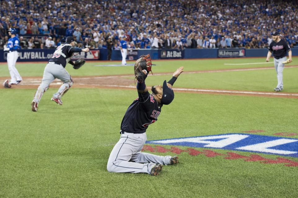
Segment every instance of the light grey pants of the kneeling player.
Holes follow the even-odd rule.
[[[110,154],[107,170],[115,173],[150,174],[152,166],[156,163],[169,165],[171,156],[157,156],[141,152],[146,140],[146,133],[124,132],[121,134],[120,140]]]

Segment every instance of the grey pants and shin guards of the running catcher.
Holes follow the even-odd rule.
[[[43,93],[49,88],[50,84],[55,80],[55,78],[60,79],[63,84],[59,88],[58,92],[53,95],[54,98],[61,99],[65,92],[73,85],[71,76],[62,65],[52,63],[47,64],[43,71],[43,79],[41,84],[34,95],[34,102],[39,103]]]

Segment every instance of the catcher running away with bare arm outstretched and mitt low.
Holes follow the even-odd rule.
[[[43,96],[43,93],[48,90],[51,82],[55,78],[60,79],[63,84],[59,88],[58,92],[53,95],[51,100],[55,103],[62,105],[61,97],[70,89],[73,85],[73,80],[69,73],[65,69],[67,63],[72,64],[74,69],[79,69],[84,63],[84,59],[79,59],[76,61],[70,60],[73,53],[77,52],[88,52],[89,49],[81,49],[75,46],[74,37],[66,37],[66,42],[56,48],[52,58],[49,60],[48,64],[44,68],[43,79],[39,85],[37,91],[35,92],[34,99],[31,103],[32,111],[38,110],[38,103]]]

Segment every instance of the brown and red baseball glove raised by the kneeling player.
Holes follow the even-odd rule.
[[[151,62],[151,57],[150,54],[147,55],[142,55],[139,57],[139,59],[136,61],[136,63],[134,64],[134,76],[135,76],[135,81],[134,83],[136,83],[136,80],[139,83],[142,83],[145,81],[146,77],[148,76],[148,73],[151,72],[151,66],[152,66],[152,62]],[[146,71],[144,74],[142,71]],[[152,73],[153,75],[153,73]]]

